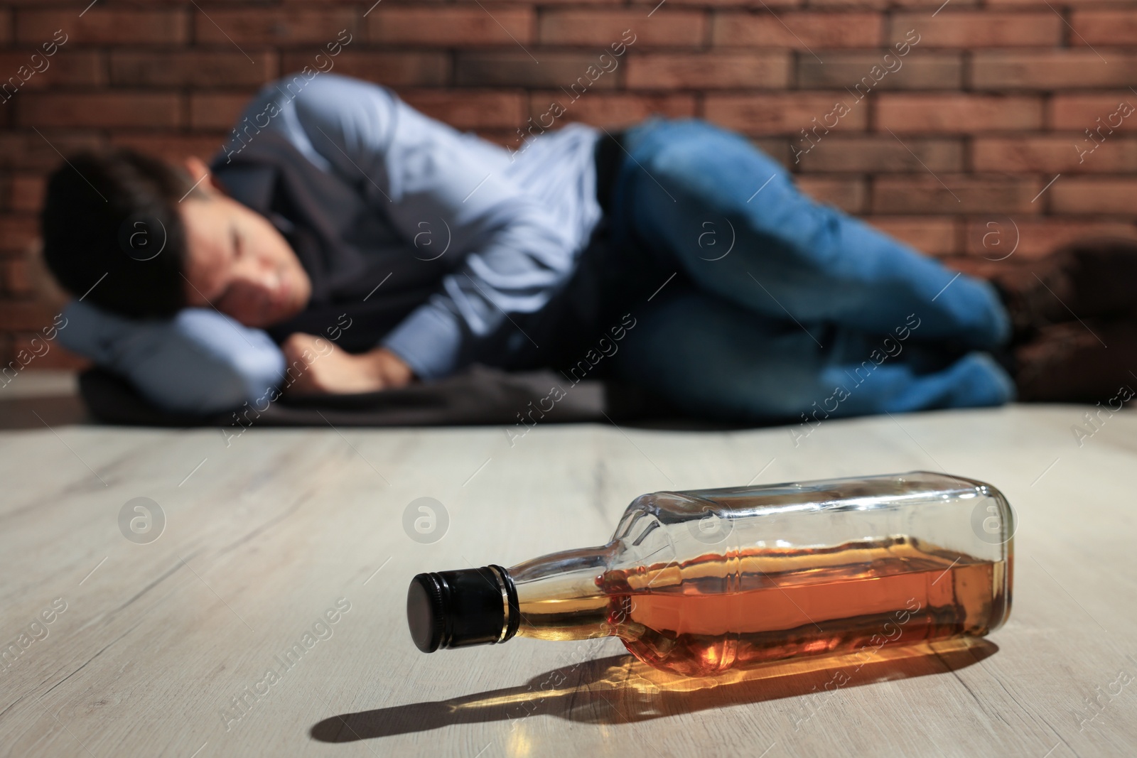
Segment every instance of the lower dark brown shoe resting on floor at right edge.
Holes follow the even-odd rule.
[[[1044,326],[1014,350],[1014,366],[1021,402],[1105,402],[1137,386],[1137,320]]]

